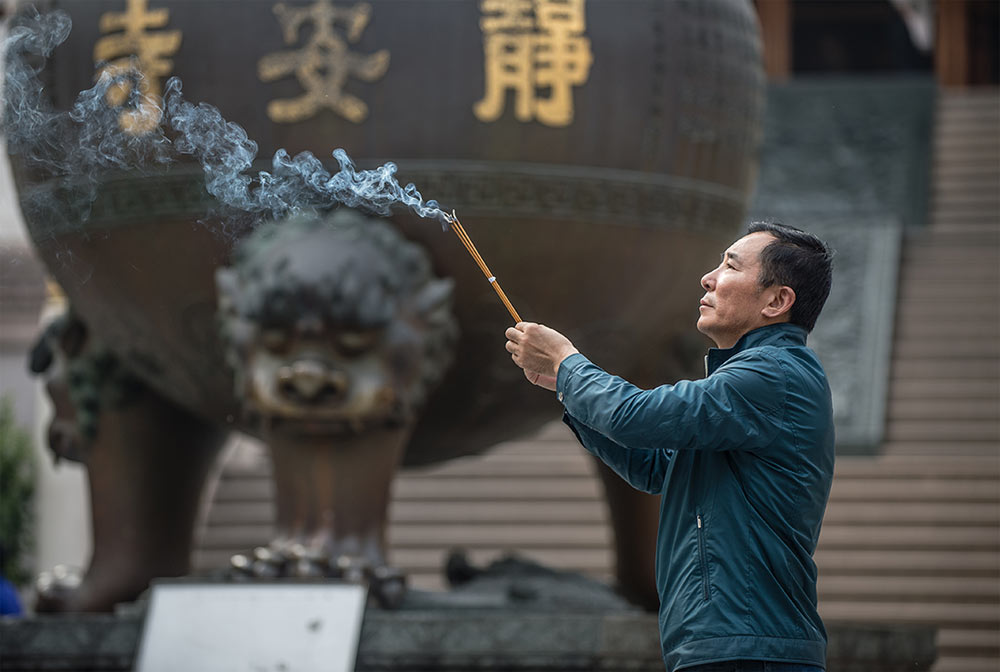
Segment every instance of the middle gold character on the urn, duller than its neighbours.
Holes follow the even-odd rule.
[[[343,89],[348,77],[373,82],[389,67],[389,52],[385,49],[369,56],[348,49],[347,43],[357,42],[368,25],[371,6],[359,3],[350,8],[334,7],[330,0],[317,0],[315,4],[300,9],[281,3],[275,5],[274,13],[281,22],[285,44],[295,43],[302,24],[311,22],[315,29],[301,50],[267,54],[257,64],[262,82],[294,73],[306,90],[298,98],[268,103],[267,116],[271,121],[302,121],[324,107],[355,123],[364,121],[368,116],[368,106]],[[344,27],[347,41],[334,30],[337,24]]]

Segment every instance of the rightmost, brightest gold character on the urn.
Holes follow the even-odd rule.
[[[514,92],[514,117],[548,126],[573,121],[572,87],[584,84],[593,60],[584,0],[482,0],[486,93],[473,108],[480,121],[503,114]]]

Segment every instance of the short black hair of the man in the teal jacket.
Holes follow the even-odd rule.
[[[769,233],[777,240],[760,253],[761,287],[786,285],[795,291],[792,324],[812,331],[830,296],[833,250],[811,233],[778,222],[752,222],[747,233]]]

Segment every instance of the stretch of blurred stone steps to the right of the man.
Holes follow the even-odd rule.
[[[1000,670],[1000,91],[943,91],[926,228],[902,249],[881,455],[840,458],[828,621],[938,627],[934,672]]]

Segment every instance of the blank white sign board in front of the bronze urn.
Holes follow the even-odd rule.
[[[136,672],[353,672],[367,587],[154,584]]]

